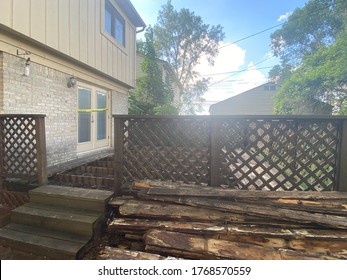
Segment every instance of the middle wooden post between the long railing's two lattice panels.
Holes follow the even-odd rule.
[[[210,118],[211,135],[210,135],[210,185],[212,187],[219,187],[221,184],[220,174],[220,120],[217,118]]]

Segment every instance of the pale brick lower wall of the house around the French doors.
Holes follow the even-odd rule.
[[[24,64],[25,59],[0,52],[0,113],[46,115],[49,167],[87,155],[77,153],[77,87],[67,87],[70,75],[32,62],[25,77]],[[109,89],[113,114],[127,113],[127,94],[122,91]]]

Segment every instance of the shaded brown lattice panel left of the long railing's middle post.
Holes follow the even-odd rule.
[[[130,118],[123,122],[125,179],[208,184],[210,124],[206,119]]]

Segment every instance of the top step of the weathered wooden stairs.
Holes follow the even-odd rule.
[[[113,192],[47,185],[29,192],[30,201],[94,212],[105,212]]]

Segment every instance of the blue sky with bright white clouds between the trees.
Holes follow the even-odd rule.
[[[252,38],[237,40],[284,23],[286,15],[302,8],[308,0],[172,0],[176,10],[188,8],[201,16],[206,24],[220,24],[225,36],[214,67],[202,61],[198,70],[202,75],[212,75],[211,86],[205,94],[207,112],[209,105],[234,96],[267,81],[268,71],[277,63],[271,58],[270,34],[276,28]],[[154,25],[158,11],[166,0],[131,0],[147,25]],[[280,28],[280,27],[277,27]],[[259,63],[262,60],[265,60]],[[259,63],[259,64],[258,64]],[[265,69],[263,69],[265,68]],[[233,71],[243,71],[235,73]],[[220,74],[232,72],[228,74]]]

